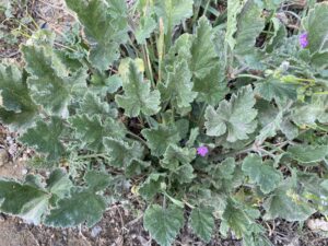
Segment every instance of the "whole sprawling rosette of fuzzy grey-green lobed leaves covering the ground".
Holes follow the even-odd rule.
[[[0,65],[0,120],[51,171],[1,178],[1,212],[92,226],[131,184],[165,246],[186,224],[270,245],[258,219],[327,214],[327,3],[303,47],[266,14],[281,1],[229,0],[226,20],[191,0],[66,2],[82,36],[59,49],[38,31],[23,66]]]

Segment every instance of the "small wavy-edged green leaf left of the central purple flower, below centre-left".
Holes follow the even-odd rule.
[[[143,159],[143,147],[137,141],[129,144],[122,140],[105,138],[104,144],[113,166],[126,168],[133,160]]]

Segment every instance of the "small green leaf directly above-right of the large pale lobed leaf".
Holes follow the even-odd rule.
[[[255,92],[267,101],[277,99],[278,102],[282,102],[285,99],[296,99],[296,89],[294,84],[283,83],[270,77],[257,83]]]

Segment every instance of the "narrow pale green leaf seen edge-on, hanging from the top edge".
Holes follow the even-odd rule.
[[[234,49],[236,45],[234,35],[237,32],[237,16],[242,12],[246,1],[247,0],[227,0],[225,43],[229,44],[231,49]]]

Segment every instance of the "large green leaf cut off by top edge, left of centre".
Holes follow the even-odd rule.
[[[66,0],[78,14],[92,46],[89,59],[99,70],[106,70],[119,58],[119,45],[128,39],[126,2],[121,0]]]

